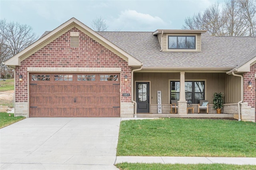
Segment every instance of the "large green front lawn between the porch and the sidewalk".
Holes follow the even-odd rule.
[[[256,157],[256,123],[178,118],[122,121],[117,156]]]

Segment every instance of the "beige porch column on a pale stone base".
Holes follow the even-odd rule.
[[[185,72],[180,72],[180,100],[178,101],[178,114],[187,115],[187,101],[185,97]]]

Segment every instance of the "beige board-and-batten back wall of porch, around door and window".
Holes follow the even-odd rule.
[[[135,81],[150,82],[151,105],[157,104],[157,91],[162,92],[162,104],[170,104],[169,93],[172,80],[179,81],[180,73],[134,73],[134,83]],[[200,80],[205,81],[205,96],[210,104],[212,104],[214,92],[225,94],[226,73],[185,73],[185,81]]]

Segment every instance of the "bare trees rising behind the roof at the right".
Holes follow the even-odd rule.
[[[256,1],[226,0],[222,10],[212,4],[204,12],[185,19],[183,29],[208,30],[213,36],[254,36]]]

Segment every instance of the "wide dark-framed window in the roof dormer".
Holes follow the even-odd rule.
[[[196,36],[168,36],[168,49],[196,49]]]

